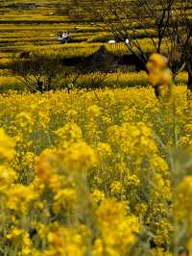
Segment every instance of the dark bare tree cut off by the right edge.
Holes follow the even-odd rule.
[[[188,63],[192,57],[190,44],[192,39],[192,20],[188,14],[189,8],[192,7],[188,0],[182,0],[177,3],[177,9],[173,11],[170,25],[167,28],[166,43],[169,65],[174,76],[184,67],[189,73]],[[188,89],[192,90],[192,83],[188,79]]]

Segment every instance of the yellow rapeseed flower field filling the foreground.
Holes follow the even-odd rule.
[[[172,94],[1,94],[1,255],[192,255],[192,100]]]

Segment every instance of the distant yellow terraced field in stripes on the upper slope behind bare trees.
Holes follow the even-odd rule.
[[[18,56],[26,51],[60,53],[60,56],[68,59],[89,56],[105,45],[108,51],[117,56],[129,54],[128,48],[122,42],[108,44],[108,39],[113,38],[112,35],[104,31],[98,22],[90,23],[90,17],[79,19],[79,16],[84,15],[83,11],[75,4],[67,9],[67,2],[70,1],[65,1],[64,5],[61,0],[54,0],[51,3],[47,0],[1,1],[0,66],[9,63],[12,56]],[[192,13],[191,10],[188,12]],[[139,28],[135,21],[132,22],[132,26],[136,29],[137,39],[142,48],[147,52],[153,52],[153,43],[147,38],[146,32]],[[73,32],[71,42],[60,44],[58,32],[73,31],[74,28],[77,30]],[[156,37],[152,25],[149,24],[148,30]],[[164,50],[166,51],[166,44]],[[185,75],[182,77],[186,78]],[[5,74],[1,81],[2,85],[8,81]],[[181,81],[183,82],[183,79]]]

